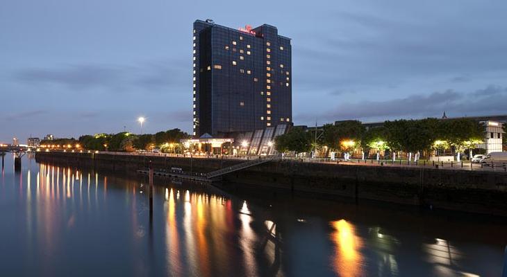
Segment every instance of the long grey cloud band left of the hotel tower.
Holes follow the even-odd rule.
[[[110,92],[171,91],[190,87],[191,73],[181,59],[160,59],[135,65],[74,64],[57,68],[29,68],[16,71],[14,79],[31,86],[57,85],[75,91],[102,89]]]

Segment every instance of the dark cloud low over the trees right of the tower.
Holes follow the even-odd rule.
[[[427,95],[411,95],[392,100],[365,100],[340,103],[334,109],[318,114],[324,120],[424,118],[439,116],[443,111],[455,116],[505,112],[507,88],[490,85],[469,93],[452,89]],[[310,120],[315,114],[299,114],[297,120]]]

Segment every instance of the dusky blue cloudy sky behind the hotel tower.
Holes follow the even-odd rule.
[[[192,23],[292,38],[294,123],[507,114],[507,1],[3,0],[0,141],[192,129]]]

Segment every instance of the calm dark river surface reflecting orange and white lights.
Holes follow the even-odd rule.
[[[480,215],[224,193],[6,156],[0,276],[499,276],[507,224]],[[250,195],[245,197],[244,195]]]

